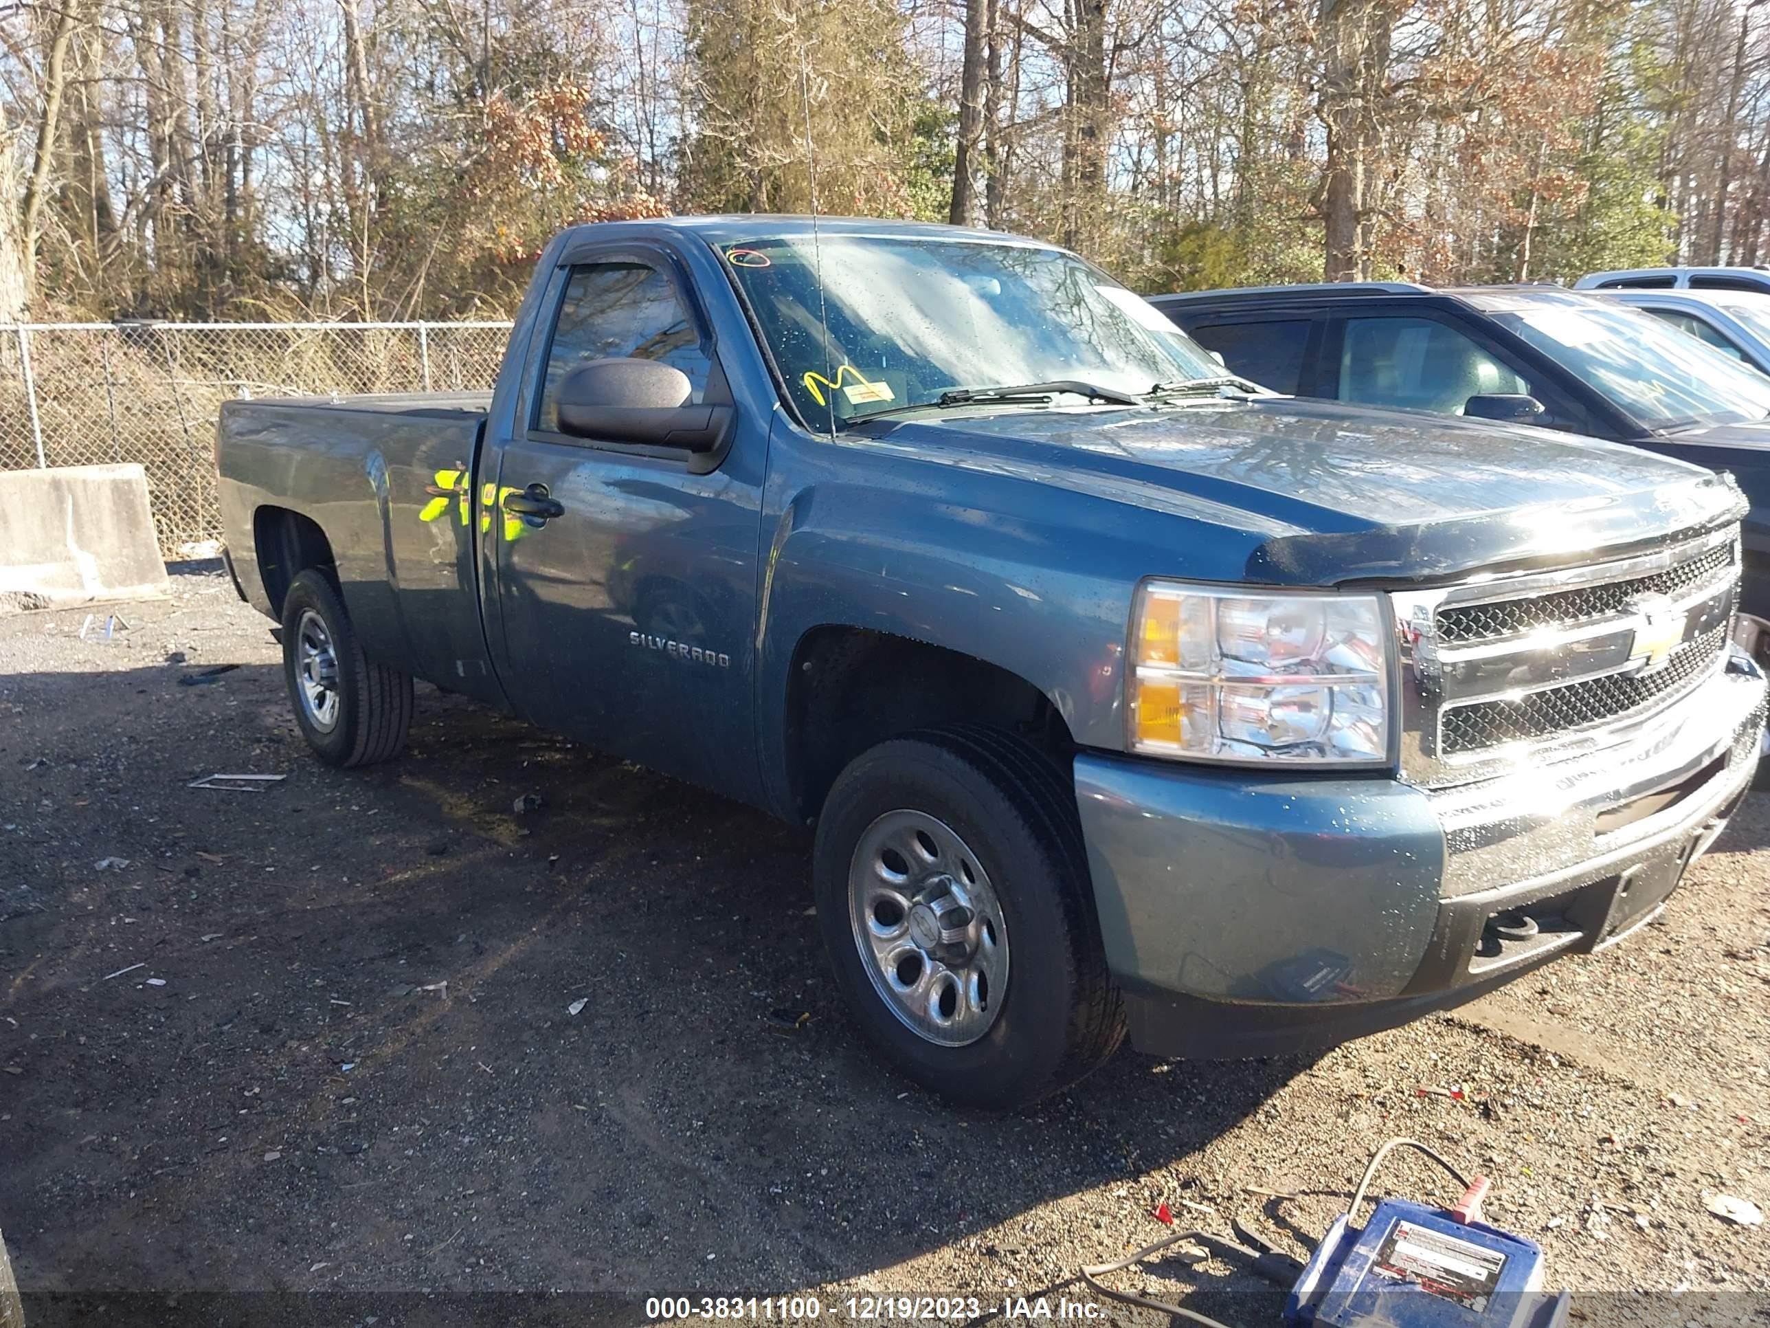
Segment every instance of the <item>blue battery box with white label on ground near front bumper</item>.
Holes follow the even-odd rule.
[[[1485,1183],[1483,1183],[1485,1185]],[[1342,1215],[1285,1301],[1287,1328],[1563,1328],[1538,1245],[1485,1222],[1384,1199]]]

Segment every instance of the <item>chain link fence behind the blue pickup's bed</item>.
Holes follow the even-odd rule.
[[[485,391],[508,322],[0,324],[0,469],[142,462],[168,558],[221,537],[221,402]]]

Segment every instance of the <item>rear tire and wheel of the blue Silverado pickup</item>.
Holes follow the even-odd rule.
[[[313,568],[283,597],[283,678],[301,737],[327,765],[400,754],[412,726],[412,678],[363,655],[343,600]]]

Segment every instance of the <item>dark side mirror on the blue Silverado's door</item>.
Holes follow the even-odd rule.
[[[657,359],[591,359],[559,379],[559,432],[605,443],[717,452],[729,405],[690,405],[689,375]]]

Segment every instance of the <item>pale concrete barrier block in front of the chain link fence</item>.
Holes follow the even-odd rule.
[[[168,593],[140,466],[0,471],[0,609]]]

